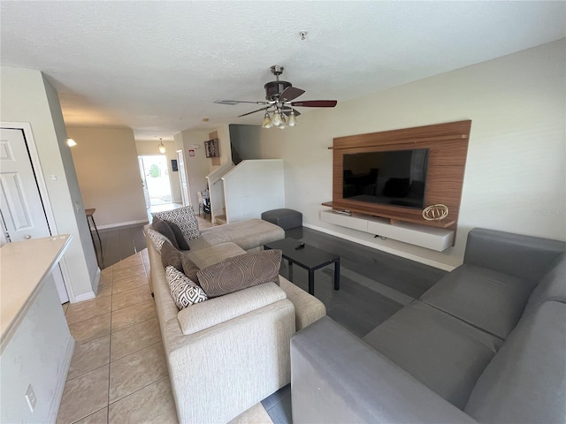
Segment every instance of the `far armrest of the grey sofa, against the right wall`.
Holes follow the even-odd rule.
[[[463,262],[539,281],[565,250],[563,241],[474,228],[468,233]]]

